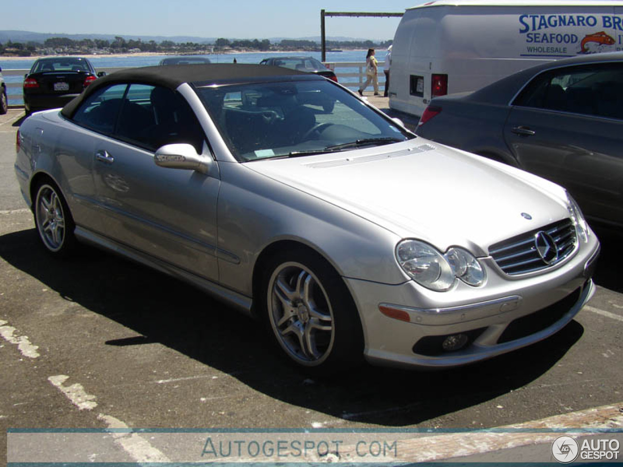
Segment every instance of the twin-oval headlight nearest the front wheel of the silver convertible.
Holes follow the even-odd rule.
[[[457,278],[473,286],[485,281],[478,260],[461,248],[450,248],[444,255],[428,243],[403,240],[396,247],[396,259],[409,277],[430,290],[448,290]]]

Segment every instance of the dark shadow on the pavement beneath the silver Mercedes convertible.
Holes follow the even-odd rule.
[[[192,286],[94,248],[80,252],[72,260],[50,257],[35,229],[0,237],[0,257],[12,267],[137,334],[103,338],[102,347],[160,342],[269,397],[358,423],[405,427],[451,418],[453,412],[537,379],[584,332],[572,321],[543,342],[460,369],[419,372],[364,365],[320,380],[286,361],[255,321]]]

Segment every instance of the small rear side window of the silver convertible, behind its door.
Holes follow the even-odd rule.
[[[98,133],[113,133],[126,87],[125,84],[112,85],[93,93],[78,108],[72,120]]]

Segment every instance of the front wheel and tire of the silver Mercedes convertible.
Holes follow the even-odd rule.
[[[320,373],[361,359],[359,315],[343,279],[330,265],[312,254],[283,253],[268,270],[266,311],[290,359]]]

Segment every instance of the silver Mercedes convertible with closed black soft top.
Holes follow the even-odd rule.
[[[313,372],[487,359],[556,333],[594,290],[599,242],[564,189],[310,73],[123,70],[17,142],[48,252],[80,240],[189,281]]]

